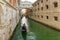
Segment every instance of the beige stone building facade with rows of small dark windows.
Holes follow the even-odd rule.
[[[32,10],[32,19],[60,30],[60,0],[37,0]]]

